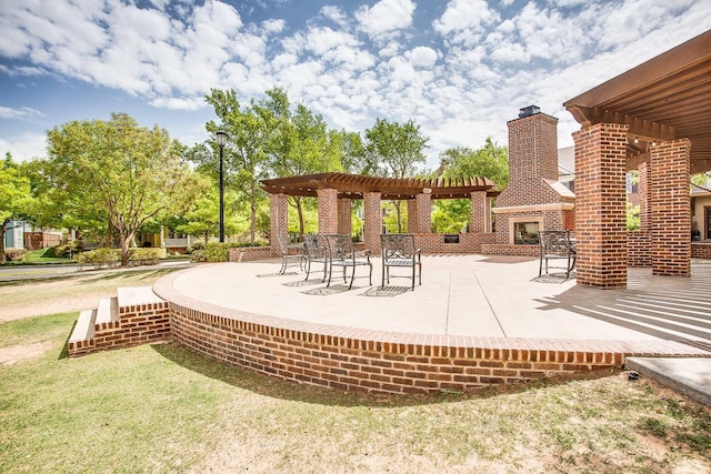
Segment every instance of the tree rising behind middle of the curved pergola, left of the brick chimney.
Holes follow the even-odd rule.
[[[425,163],[424,149],[429,138],[420,133],[413,120],[404,124],[377,119],[365,130],[365,173],[378,177],[408,178],[418,172],[417,163]],[[398,232],[402,232],[400,201],[391,202],[398,216]]]

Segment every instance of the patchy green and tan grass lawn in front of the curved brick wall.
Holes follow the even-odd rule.
[[[40,347],[0,365],[0,472],[711,472],[711,411],[624,373],[347,394],[172,343],[63,359],[76,317],[0,324],[0,355]]]

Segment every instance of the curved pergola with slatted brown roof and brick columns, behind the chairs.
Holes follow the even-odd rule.
[[[395,179],[348,173],[318,173],[262,180],[270,195],[271,234],[288,233],[288,196],[314,196],[319,206],[319,232],[351,233],[351,201],[363,200],[364,243],[380,251],[381,200],[408,201],[408,231],[431,233],[431,200],[470,199],[469,232],[491,232],[491,199],[499,194],[488,178]],[[424,250],[424,249],[423,249]]]

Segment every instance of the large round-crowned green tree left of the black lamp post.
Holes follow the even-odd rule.
[[[48,132],[43,178],[70,215],[103,216],[129,262],[129,245],[150,219],[186,212],[200,192],[168,131],[129,115],[72,121]]]

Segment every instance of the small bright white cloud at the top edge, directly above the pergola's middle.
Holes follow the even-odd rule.
[[[356,11],[359,29],[373,39],[385,39],[412,24],[415,4],[411,0],[380,0]]]

